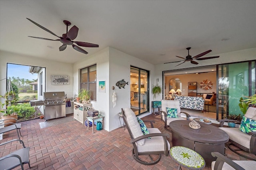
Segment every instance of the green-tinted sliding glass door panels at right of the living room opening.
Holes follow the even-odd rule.
[[[239,100],[255,94],[255,61],[217,66],[216,119],[242,115]]]

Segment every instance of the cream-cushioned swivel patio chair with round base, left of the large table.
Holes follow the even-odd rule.
[[[153,165],[159,162],[161,154],[168,156],[170,143],[167,141],[167,137],[169,138],[170,135],[161,133],[159,129],[154,128],[154,121],[148,121],[151,125],[151,128],[148,128],[149,134],[143,135],[141,125],[138,123],[132,109],[122,109],[122,118],[132,139],[132,156],[137,162],[144,165]]]

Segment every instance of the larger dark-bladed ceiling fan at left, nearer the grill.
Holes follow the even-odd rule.
[[[27,18],[29,21],[31,21],[32,23],[34,23],[35,25],[37,25],[38,27],[44,29],[44,31],[47,31],[48,33],[51,33],[52,35],[60,38],[60,39],[48,39],[48,38],[41,38],[41,37],[32,37],[32,36],[28,36],[28,37],[32,37],[32,38],[38,38],[38,39],[44,39],[44,40],[50,40],[50,41],[60,41],[61,43],[63,43],[62,46],[60,46],[60,51],[63,51],[64,49],[66,49],[67,45],[72,45],[73,49],[75,49],[76,51],[79,51],[81,53],[84,54],[88,54],[87,51],[85,51],[84,49],[78,47],[78,46],[82,46],[82,47],[99,47],[99,45],[97,44],[92,44],[92,43],[86,43],[86,42],[81,42],[81,41],[73,41],[77,35],[78,35],[78,27],[76,27],[76,25],[74,25],[73,27],[71,27],[68,31],[68,26],[71,25],[70,21],[66,21],[64,20],[64,24],[67,26],[67,31],[66,33],[62,34],[62,37],[59,37],[58,35],[56,35],[55,33],[53,33],[52,31],[50,31],[49,29],[39,25],[38,23],[30,20],[29,18]],[[77,45],[75,45],[74,43],[76,43]]]

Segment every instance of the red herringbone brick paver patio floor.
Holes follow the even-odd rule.
[[[156,121],[154,127],[160,129],[162,133],[169,133],[164,130],[164,123],[156,115],[142,118],[142,120],[146,119]],[[136,162],[132,157],[132,145],[127,129],[118,128],[111,132],[95,130],[92,134],[92,129],[88,131],[78,121],[40,129],[39,123],[42,121],[44,120],[35,119],[21,122],[21,139],[25,146],[30,147],[31,170],[176,170],[178,168],[178,164],[170,156],[164,155],[155,165],[145,166]],[[17,139],[16,131],[5,133],[0,143],[12,139]],[[168,141],[171,143],[171,137]],[[15,142],[5,146],[0,148],[0,157],[22,147]],[[227,152],[228,157],[233,160],[246,160],[229,149]],[[28,164],[25,164],[24,168],[29,169]],[[208,169],[210,167],[204,168],[204,170]]]

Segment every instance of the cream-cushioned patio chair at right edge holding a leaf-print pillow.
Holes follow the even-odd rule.
[[[249,107],[246,111],[246,114],[244,117],[252,120],[256,120],[256,108],[255,107]],[[239,122],[231,119],[220,119],[219,128],[228,133],[229,136],[229,145],[228,148],[235,152],[236,154],[243,156],[248,159],[256,160],[254,158],[251,158],[250,156],[247,156],[247,154],[243,154],[242,152],[239,152],[241,150],[244,150],[246,152],[250,152],[252,154],[256,155],[256,132],[251,131],[248,133],[244,133],[240,131],[240,127],[223,127],[224,122]],[[239,149],[232,149],[230,147],[231,145],[235,145]]]

